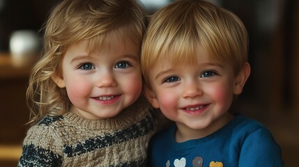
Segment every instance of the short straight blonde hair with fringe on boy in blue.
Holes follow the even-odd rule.
[[[148,74],[160,60],[194,63],[201,46],[213,61],[233,65],[235,74],[247,62],[245,26],[229,10],[200,0],[178,0],[160,8],[148,23],[141,47],[141,70]]]

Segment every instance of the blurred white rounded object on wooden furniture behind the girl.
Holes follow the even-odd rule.
[[[35,31],[20,30],[13,32],[9,42],[13,65],[20,67],[31,63],[38,52],[39,45]]]

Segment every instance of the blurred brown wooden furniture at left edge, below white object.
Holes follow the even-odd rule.
[[[17,154],[21,153],[22,141],[29,127],[26,125],[29,121],[26,87],[30,70],[31,66],[15,67],[9,54],[0,53],[0,166],[17,166]],[[1,151],[6,153],[1,154]]]

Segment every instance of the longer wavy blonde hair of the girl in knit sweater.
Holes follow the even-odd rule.
[[[66,90],[51,78],[52,74],[61,74],[69,45],[88,40],[89,49],[101,49],[131,40],[141,46],[145,15],[144,6],[137,0],[61,1],[45,23],[43,56],[31,71],[26,93],[30,122],[36,123],[47,114],[59,116],[70,109]]]

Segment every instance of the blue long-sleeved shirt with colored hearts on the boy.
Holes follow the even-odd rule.
[[[235,116],[204,138],[176,143],[176,126],[157,134],[149,146],[149,166],[284,166],[281,149],[261,123]]]

